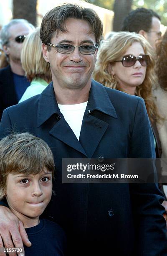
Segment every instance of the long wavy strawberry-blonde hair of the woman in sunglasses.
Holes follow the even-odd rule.
[[[103,43],[99,50],[93,77],[96,81],[104,84],[106,87],[122,91],[119,87],[119,83],[109,73],[109,64],[114,64],[114,61],[120,60],[134,42],[139,42],[142,45],[144,53],[148,54],[151,60],[150,64],[147,66],[145,79],[142,84],[137,86],[135,95],[144,99],[149,119],[154,123],[160,119],[157,106],[152,95],[152,86],[157,84],[157,77],[154,72],[154,53],[151,46],[143,36],[136,33],[119,32],[110,40]]]

